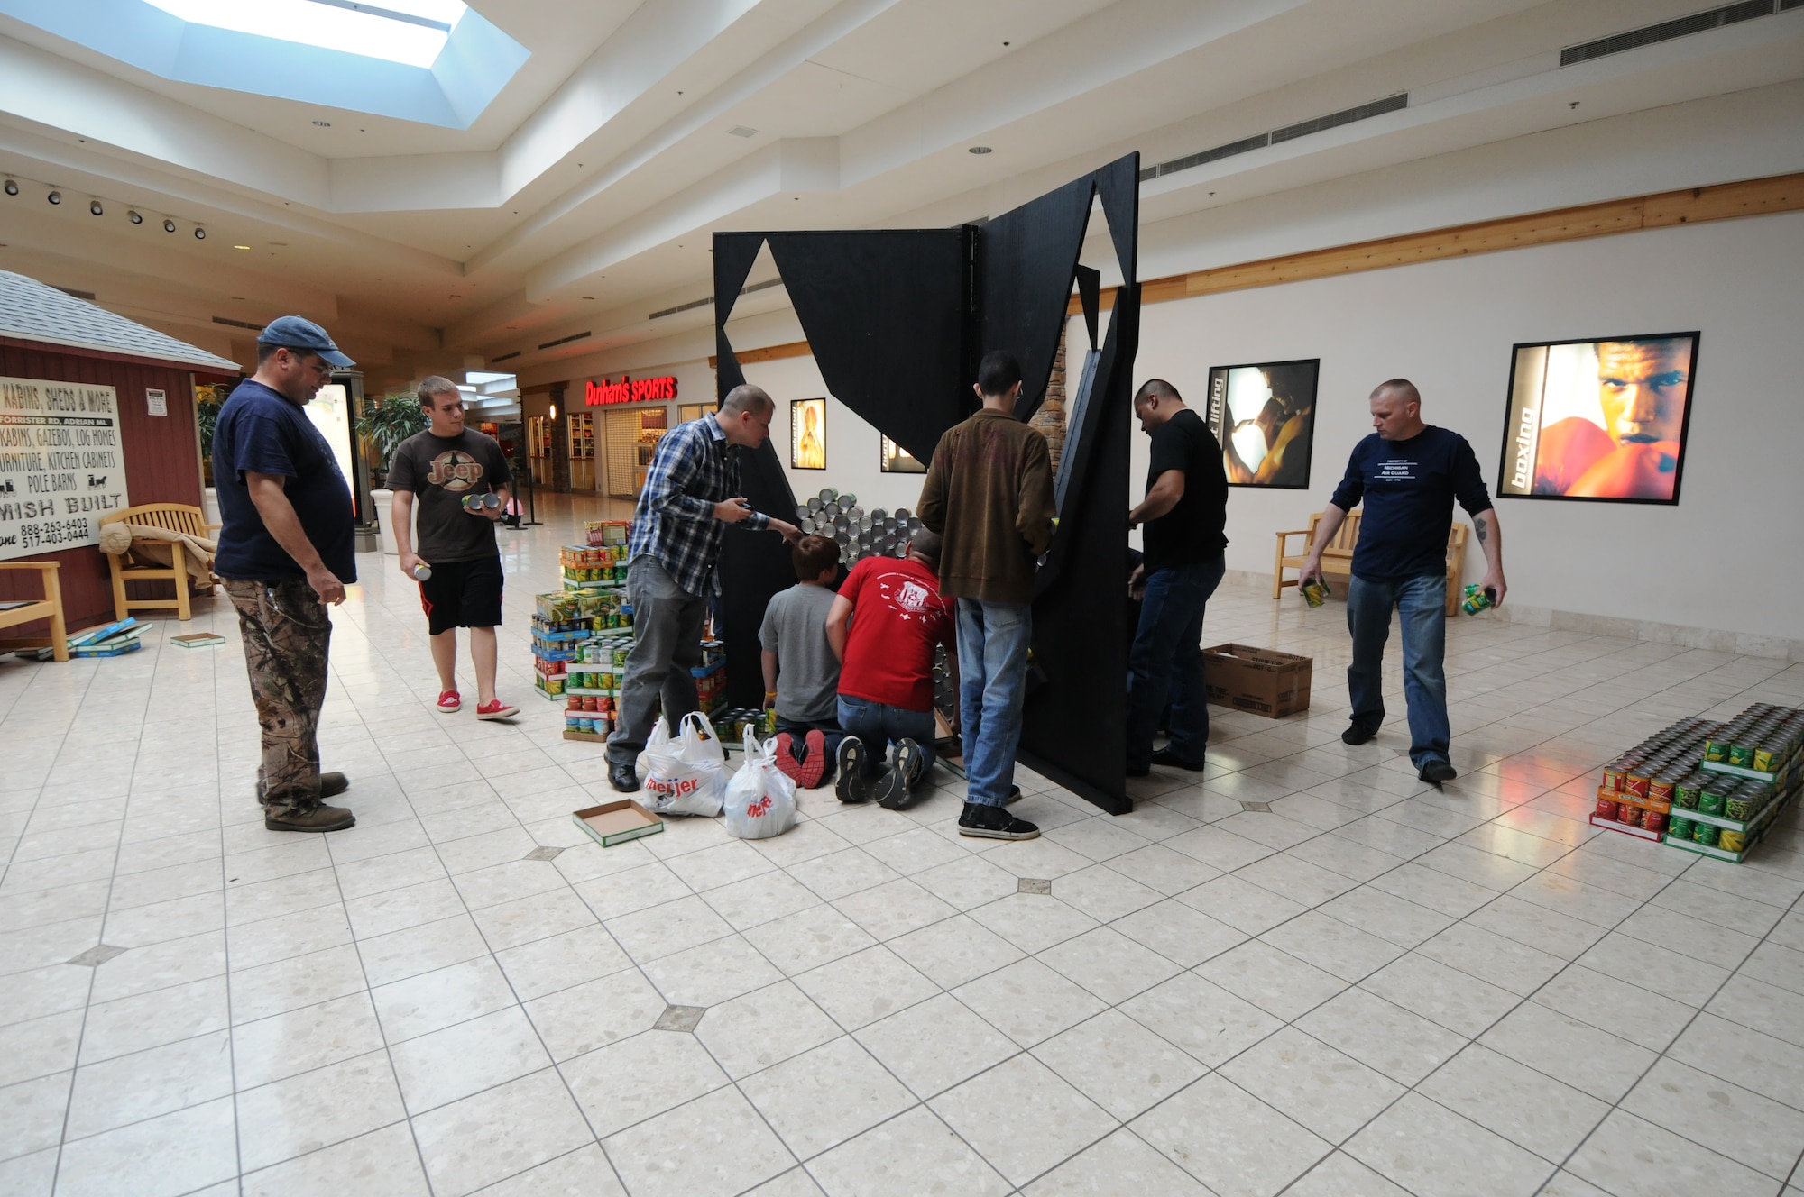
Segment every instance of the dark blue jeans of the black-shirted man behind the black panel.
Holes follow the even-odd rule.
[[[1171,703],[1171,754],[1203,763],[1209,692],[1203,685],[1203,608],[1227,573],[1227,559],[1169,566],[1146,575],[1140,627],[1128,653],[1128,768],[1153,759],[1153,730]]]

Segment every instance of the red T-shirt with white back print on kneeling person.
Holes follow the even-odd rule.
[[[907,557],[866,557],[839,588],[851,602],[839,692],[933,710],[933,651],[954,647],[954,608],[933,570]]]

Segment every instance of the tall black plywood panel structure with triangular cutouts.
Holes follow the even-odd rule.
[[[1091,204],[1100,198],[1118,260],[1109,328],[1088,393],[1070,404],[1059,528],[1034,597],[1034,663],[1021,759],[1122,813],[1126,795],[1128,644],[1122,561],[1128,543],[1128,447],[1140,334],[1137,281],[1138,155],[1075,178],[985,225],[848,233],[716,233],[714,339],[725,397],[745,380],[727,339],[732,296],[769,243],[828,391],[929,461],[938,438],[976,407],[971,384],[987,350],[1021,361],[1016,407],[1045,400],[1073,285],[1097,335],[1097,276],[1079,267]],[[1088,361],[1088,359],[1086,359]],[[747,499],[794,517],[796,496],[776,451],[741,451]],[[794,580],[776,537],[729,535],[722,553],[727,683],[756,705],[758,624],[770,595]]]

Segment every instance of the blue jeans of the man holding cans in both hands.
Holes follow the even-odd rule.
[[[1348,582],[1348,631],[1353,663],[1348,694],[1353,726],[1376,732],[1384,723],[1384,642],[1391,638],[1391,608],[1404,626],[1404,699],[1409,705],[1409,761],[1420,770],[1447,759],[1447,577],[1441,573],[1394,582],[1353,577]]]

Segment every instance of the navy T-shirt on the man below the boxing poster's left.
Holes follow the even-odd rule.
[[[1409,440],[1376,433],[1353,447],[1348,474],[1330,499],[1344,512],[1366,499],[1353,573],[1380,582],[1447,573],[1454,499],[1468,516],[1490,510],[1472,445],[1432,424]]]

